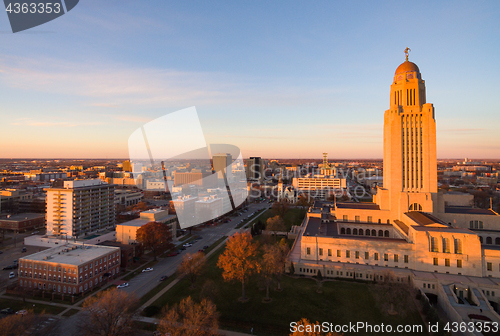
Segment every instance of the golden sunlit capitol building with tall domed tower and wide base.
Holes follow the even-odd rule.
[[[316,201],[289,261],[296,274],[326,278],[373,281],[390,271],[455,320],[467,322],[477,308],[500,321],[500,215],[438,191],[435,117],[406,51],[384,115],[383,187],[370,203]]]

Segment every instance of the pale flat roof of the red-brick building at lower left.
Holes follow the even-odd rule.
[[[104,254],[119,250],[119,247],[67,243],[20,259],[78,266]]]

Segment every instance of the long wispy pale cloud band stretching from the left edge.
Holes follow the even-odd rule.
[[[258,78],[124,64],[79,64],[65,60],[0,56],[3,86],[84,97],[87,105],[179,108],[193,105],[296,107],[339,98],[342,88],[311,88],[286,78]],[[340,99],[340,98],[339,98]],[[105,101],[105,102],[103,102]]]

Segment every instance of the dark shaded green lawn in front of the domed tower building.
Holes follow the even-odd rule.
[[[153,305],[171,306],[187,296],[199,301],[201,288],[210,279],[218,289],[218,295],[214,295],[213,301],[220,312],[221,329],[248,333],[253,328],[257,335],[284,335],[289,330],[290,322],[303,317],[314,322],[327,321],[334,324],[358,321],[372,325],[391,324],[394,327],[397,324],[422,324],[411,301],[404,318],[384,313],[375,300],[379,287],[371,283],[325,281],[323,293],[318,294],[314,279],[284,276],[283,291],[271,290],[272,302],[262,303],[265,291],[259,289],[258,279],[253,277],[246,284],[246,295],[250,300],[241,303],[238,301],[241,283],[224,282],[222,270],[216,266],[222,251],[223,249],[217,251],[208,259],[206,273],[196,281],[195,289],[190,289],[188,280],[181,280]]]

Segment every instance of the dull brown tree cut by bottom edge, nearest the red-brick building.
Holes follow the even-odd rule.
[[[119,289],[100,291],[83,302],[80,331],[85,336],[132,335],[138,300]]]

